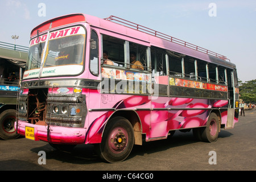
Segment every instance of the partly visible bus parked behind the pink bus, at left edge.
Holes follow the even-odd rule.
[[[26,47],[0,42],[0,138],[15,139],[17,93],[27,61]],[[7,47],[7,48],[6,48]]]

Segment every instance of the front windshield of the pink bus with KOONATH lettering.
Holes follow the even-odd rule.
[[[79,75],[84,68],[85,29],[75,28],[32,39],[24,78]]]

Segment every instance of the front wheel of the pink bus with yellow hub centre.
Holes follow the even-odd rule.
[[[96,152],[109,163],[121,162],[129,156],[134,146],[134,131],[131,123],[123,117],[115,117],[107,123]]]

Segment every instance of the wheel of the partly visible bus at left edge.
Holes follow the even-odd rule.
[[[9,140],[19,137],[15,131],[16,110],[8,109],[0,114],[0,138]]]

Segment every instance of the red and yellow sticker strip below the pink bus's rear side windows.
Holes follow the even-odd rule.
[[[200,81],[184,80],[180,78],[170,77],[169,84],[174,86],[184,86],[184,87],[196,88],[196,89],[207,89],[207,90],[228,92],[228,87],[224,85],[209,84],[209,83],[204,83]]]

